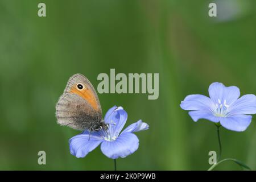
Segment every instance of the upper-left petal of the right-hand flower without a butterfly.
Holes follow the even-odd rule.
[[[180,104],[180,107],[184,110],[208,110],[213,106],[209,97],[200,94],[189,95]]]

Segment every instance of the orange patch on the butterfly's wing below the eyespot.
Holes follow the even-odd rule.
[[[89,102],[89,104],[93,107],[93,109],[98,110],[98,104],[92,90],[89,90],[89,89],[77,90],[76,86],[73,86],[70,93],[75,93],[80,97],[84,98],[84,100]]]

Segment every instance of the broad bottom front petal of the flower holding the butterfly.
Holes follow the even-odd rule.
[[[119,157],[125,158],[127,155],[133,154],[139,147],[139,139],[133,133],[122,133],[119,137],[112,141],[104,141],[101,144],[103,154],[111,159]]]

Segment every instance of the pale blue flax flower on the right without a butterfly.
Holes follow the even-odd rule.
[[[209,97],[194,94],[185,97],[180,107],[189,111],[193,121],[208,119],[228,130],[244,131],[251,123],[251,115],[256,113],[256,96],[247,94],[240,97],[236,86],[226,87],[214,82],[209,86]],[[240,97],[240,98],[239,98]]]

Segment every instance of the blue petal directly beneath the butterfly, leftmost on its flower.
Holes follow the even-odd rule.
[[[84,132],[84,134],[79,134],[69,139],[69,150],[77,158],[84,158],[101,142],[102,138],[98,133],[91,133],[89,136],[89,133]]]

